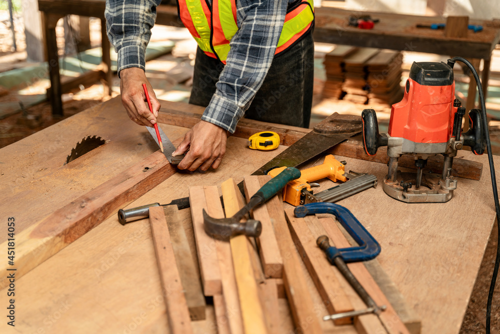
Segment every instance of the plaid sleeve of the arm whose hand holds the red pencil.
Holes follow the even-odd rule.
[[[161,0],[106,0],[104,17],[109,41],[118,54],[121,70],[138,67],[144,70],[146,46]]]

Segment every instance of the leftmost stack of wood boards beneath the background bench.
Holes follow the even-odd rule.
[[[324,69],[326,71],[326,81],[323,88],[324,98],[342,98],[342,84],[345,79],[344,59],[356,50],[355,47],[337,45],[333,51],[324,57]]]

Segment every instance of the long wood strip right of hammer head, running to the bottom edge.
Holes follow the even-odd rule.
[[[253,195],[270,180],[269,176],[253,176],[258,183],[251,182],[246,185],[248,194]],[[251,181],[251,178],[248,179]],[[304,333],[322,332],[319,319],[314,313],[311,296],[307,291],[305,281],[306,273],[303,271],[299,255],[290,232],[286,225],[283,212],[283,204],[280,196],[274,196],[263,206],[266,207],[269,217],[273,219],[273,228],[278,242],[279,250],[283,255],[283,281],[288,297],[288,302],[293,315],[296,330],[302,330]],[[254,218],[260,219],[255,216]]]

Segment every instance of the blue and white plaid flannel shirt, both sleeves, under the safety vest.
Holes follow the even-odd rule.
[[[106,28],[122,69],[144,70],[145,49],[161,0],[106,0]],[[238,31],[202,120],[234,133],[271,66],[288,3],[296,0],[237,0]],[[211,0],[210,0],[211,5]]]

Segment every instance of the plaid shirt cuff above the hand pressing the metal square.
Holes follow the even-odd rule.
[[[243,110],[234,102],[214,94],[201,120],[218,125],[232,134],[236,131],[236,124],[243,114]]]

